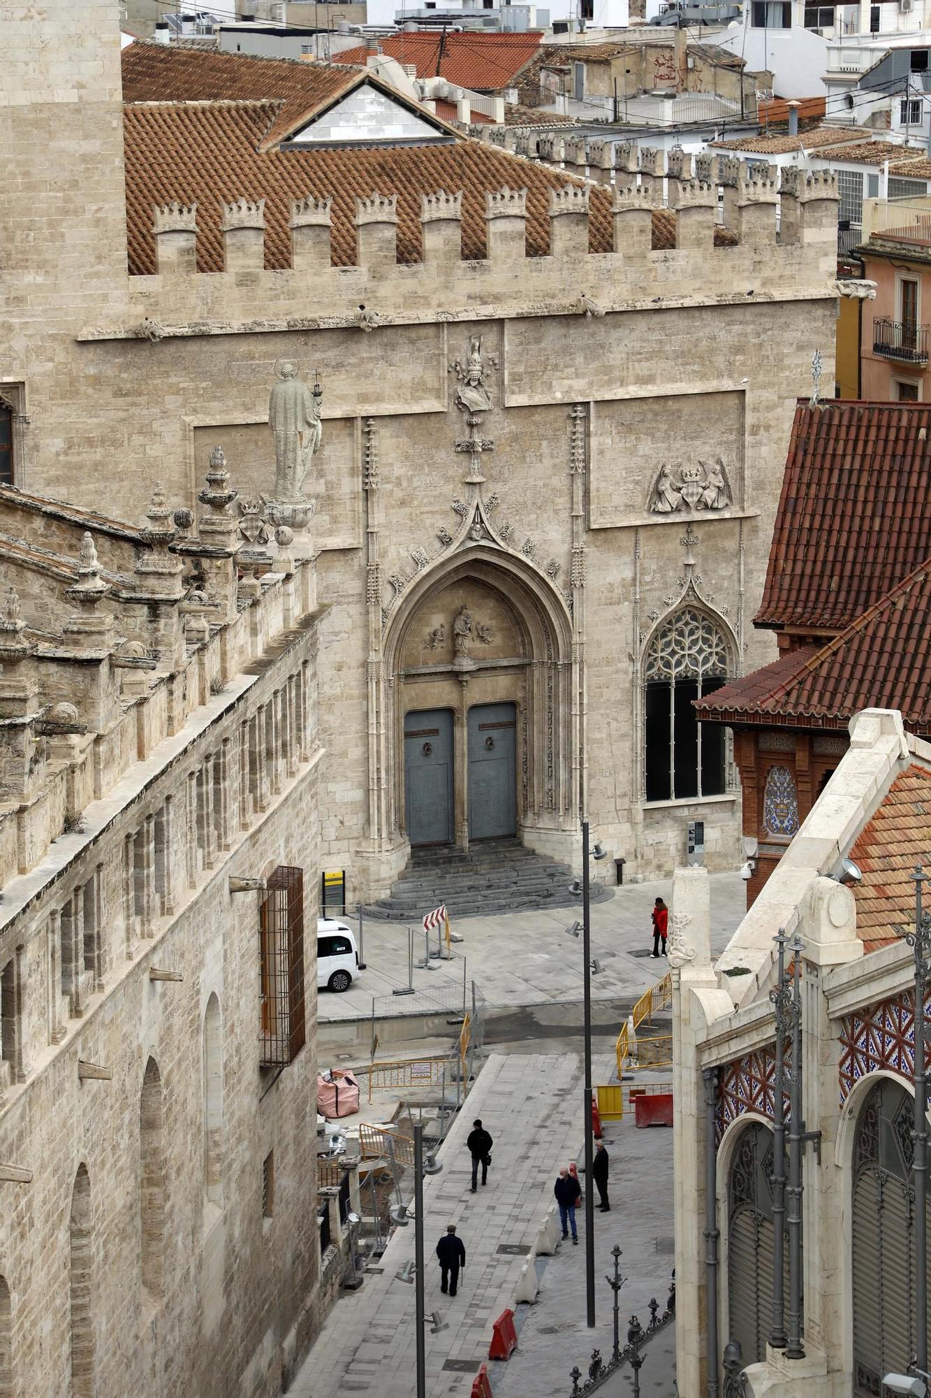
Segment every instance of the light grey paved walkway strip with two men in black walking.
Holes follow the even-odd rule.
[[[426,1176],[424,1184],[426,1314],[439,1310],[449,1323],[438,1335],[426,1327],[428,1398],[471,1392],[478,1362],[488,1356],[492,1321],[513,1307],[527,1260],[499,1248],[534,1244],[561,1165],[577,1159],[580,1113],[582,1072],[575,1054],[492,1054],[450,1127],[439,1152],[443,1170]],[[495,1145],[488,1186],[471,1194],[466,1137],[475,1117]],[[433,1255],[447,1223],[456,1223],[466,1244],[466,1269],[454,1297],[442,1295]],[[569,1244],[580,1257],[583,1236],[584,1225],[579,1247]],[[415,1289],[394,1279],[407,1261],[414,1261],[412,1223],[394,1230],[382,1274],[366,1272],[358,1292],[340,1296],[289,1390],[292,1398],[411,1398]],[[445,1367],[456,1362],[467,1367]]]

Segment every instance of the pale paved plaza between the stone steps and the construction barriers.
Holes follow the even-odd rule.
[[[712,874],[712,948],[727,945],[745,911],[745,884],[737,874]],[[629,884],[608,889],[611,896],[591,905],[591,953],[604,967],[591,977],[596,1000],[636,1000],[665,974],[664,960],[644,955],[653,946],[650,910],[656,898],[672,895],[670,879]],[[566,927],[582,918],[577,910],[509,913],[495,917],[464,917],[453,923],[463,937],[453,946],[452,962],[433,962],[433,970],[414,970],[414,995],[391,993],[408,983],[407,928],[397,923],[366,918],[363,951],[366,969],[341,995],[320,991],[320,1023],[368,1019],[372,1000],[377,1016],[424,1014],[431,1001],[446,1008],[461,1004],[463,969],[474,980],[488,1005],[538,1005],[582,1000],[582,942],[566,935]],[[348,918],[356,927],[354,917]],[[436,938],[433,938],[436,948]],[[424,931],[415,928],[415,960],[424,960]],[[463,967],[463,958],[466,965]]]

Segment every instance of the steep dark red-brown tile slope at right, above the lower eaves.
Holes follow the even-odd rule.
[[[931,405],[798,400],[756,626],[842,630],[931,556]]]

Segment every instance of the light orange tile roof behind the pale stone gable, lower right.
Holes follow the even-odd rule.
[[[864,951],[902,939],[914,927],[914,884],[910,874],[931,850],[931,772],[911,763],[902,772],[850,850],[863,874],[853,885],[857,935]]]

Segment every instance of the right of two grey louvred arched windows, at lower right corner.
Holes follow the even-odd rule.
[[[914,1355],[913,1127],[911,1095],[881,1078],[860,1109],[854,1138],[854,1398],[874,1398],[882,1376],[906,1373]]]

